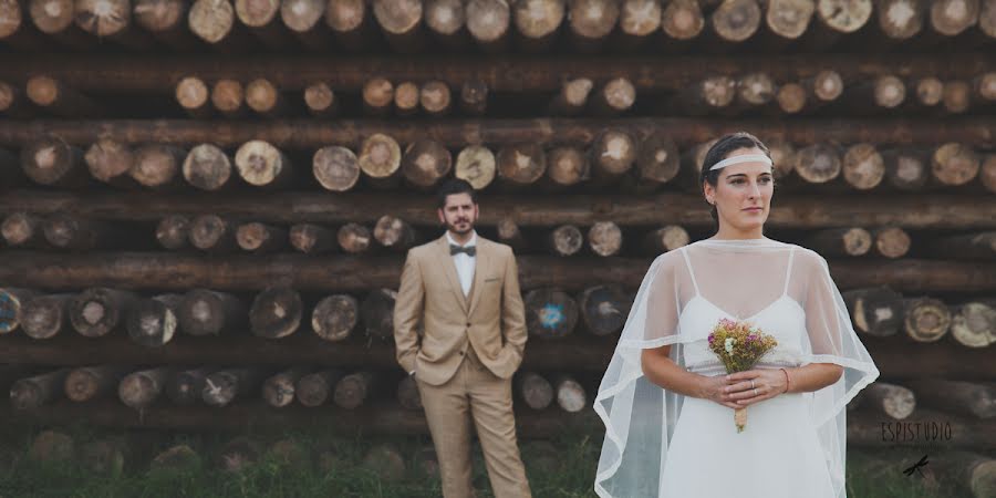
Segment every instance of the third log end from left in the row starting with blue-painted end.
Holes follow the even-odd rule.
[[[137,300],[137,295],[124,290],[86,289],[70,300],[70,323],[80,335],[102,338],[124,328],[125,317]]]

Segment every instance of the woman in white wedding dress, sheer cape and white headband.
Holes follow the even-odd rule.
[[[879,376],[826,260],[766,238],[767,147],[720,138],[702,168],[719,229],[658,256],[636,294],[594,409],[601,497],[844,498],[848,401]],[[720,319],[778,345],[727,375],[707,345]],[[748,407],[738,433],[734,409]]]

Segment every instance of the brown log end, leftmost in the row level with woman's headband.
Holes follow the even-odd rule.
[[[83,151],[56,135],[27,144],[21,149],[21,168],[32,181],[49,187],[82,187],[90,176]]]

